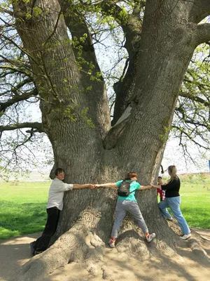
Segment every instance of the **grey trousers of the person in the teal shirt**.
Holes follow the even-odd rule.
[[[135,201],[130,200],[118,200],[116,206],[116,220],[111,231],[111,237],[118,237],[118,231],[121,224],[123,223],[123,218],[125,218],[126,213],[130,212],[137,221],[138,226],[142,229],[144,233],[148,233],[148,228],[144,221],[144,218],[139,209],[139,205]]]

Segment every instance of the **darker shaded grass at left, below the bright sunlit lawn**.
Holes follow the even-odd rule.
[[[0,201],[0,240],[42,231],[46,218],[45,203]]]

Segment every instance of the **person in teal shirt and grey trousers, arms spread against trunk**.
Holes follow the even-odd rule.
[[[144,218],[141,214],[141,211],[139,209],[139,205],[137,204],[137,200],[135,198],[135,192],[140,189],[146,190],[151,189],[151,185],[145,185],[141,186],[139,183],[137,183],[137,173],[130,172],[127,174],[127,178],[125,178],[125,181],[130,182],[130,194],[126,197],[118,196],[118,202],[116,205],[116,219],[113,225],[113,229],[111,231],[111,238],[109,240],[109,246],[111,248],[115,247],[116,239],[118,237],[118,231],[120,229],[121,224],[123,223],[123,219],[125,218],[125,215],[127,214],[127,211],[134,216],[135,220],[137,221],[138,226],[141,228],[141,230],[144,232],[144,235],[146,237],[146,240],[148,242],[151,242],[155,238],[155,233],[149,233],[148,228],[146,226],[146,223],[144,221]],[[102,184],[96,184],[96,188],[120,188],[121,183],[123,180],[118,181],[117,183],[102,183]]]

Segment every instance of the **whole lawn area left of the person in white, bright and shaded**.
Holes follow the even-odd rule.
[[[0,239],[43,230],[49,186],[47,182],[0,183]]]

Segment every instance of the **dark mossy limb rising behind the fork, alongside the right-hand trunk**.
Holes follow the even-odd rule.
[[[137,73],[137,55],[139,53],[141,39],[142,21],[140,12],[143,11],[144,4],[144,1],[134,1],[132,13],[125,14],[125,11],[114,3],[114,1],[102,2],[102,13],[105,15],[112,15],[116,22],[122,27],[126,39],[124,47],[129,54],[126,74],[113,86],[116,92],[116,105],[114,107],[112,124],[116,124],[119,117],[123,115],[134,90],[134,80]]]

